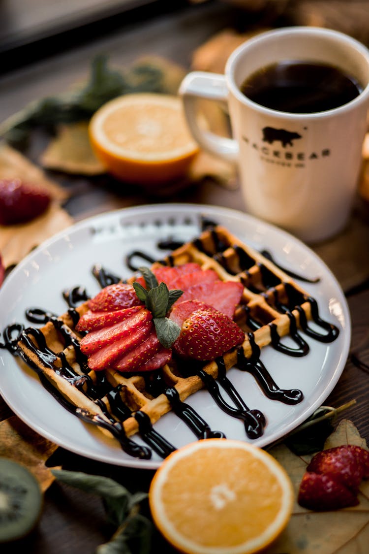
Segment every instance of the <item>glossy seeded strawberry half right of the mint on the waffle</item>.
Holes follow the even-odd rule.
[[[230,317],[207,307],[184,320],[173,347],[180,356],[206,361],[221,356],[244,339],[242,329]]]

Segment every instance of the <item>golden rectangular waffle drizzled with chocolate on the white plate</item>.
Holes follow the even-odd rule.
[[[102,372],[90,371],[79,349],[81,335],[75,329],[79,317],[88,309],[87,301],[59,317],[46,315],[43,326],[39,329],[28,327],[19,336],[20,356],[38,372],[41,382],[56,399],[80,418],[96,424],[105,433],[113,434],[126,452],[138,457],[148,457],[148,451],[135,450],[129,437],[139,433],[146,442],[154,445],[157,452],[164,448],[165,456],[171,445],[165,444],[164,438],[160,442],[158,435],[153,434],[152,425],[171,409],[180,414],[175,407],[186,406],[185,399],[199,389],[208,387],[214,390],[215,379],[220,380],[222,386],[228,386],[228,393],[235,399],[235,407],[227,404],[228,413],[243,418],[246,432],[253,438],[256,429],[258,433],[262,432],[263,414],[250,411],[242,403],[227,381],[226,372],[233,366],[243,366],[264,383],[267,396],[279,395],[279,400],[290,404],[300,402],[303,398],[301,391],[280,391],[270,377],[268,382],[267,372],[259,360],[260,349],[272,344],[289,355],[302,356],[309,347],[298,329],[324,342],[334,340],[338,333],[336,327],[320,319],[315,300],[291,276],[224,227],[216,225],[204,230],[198,238],[156,261],[152,267],[188,262],[196,262],[202,269],[214,269],[220,280],[235,280],[243,284],[235,320],[245,332],[245,341],[221,359],[201,365],[191,363],[191,367],[174,360],[155,375],[152,372],[123,374],[111,368]],[[134,279],[133,276],[129,281]],[[315,330],[309,326],[311,319],[315,321]],[[317,326],[322,332],[316,331]],[[296,348],[282,344],[280,338],[286,335],[293,338]],[[191,415],[189,407],[187,410],[187,415]],[[202,436],[215,436],[214,432],[209,433],[201,418],[197,423],[199,419],[207,432],[204,434],[202,429]],[[192,427],[196,427],[195,423]]]

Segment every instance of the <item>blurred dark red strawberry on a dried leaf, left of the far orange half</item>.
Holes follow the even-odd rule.
[[[51,198],[45,190],[20,179],[0,180],[0,224],[27,223],[49,207]]]

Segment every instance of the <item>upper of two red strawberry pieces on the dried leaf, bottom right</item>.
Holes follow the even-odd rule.
[[[315,454],[306,470],[328,475],[337,483],[341,483],[357,493],[369,465],[365,468],[365,464],[361,461],[363,454],[356,449],[366,453],[369,459],[369,453],[366,450],[359,447],[351,448],[350,445],[342,445]]]

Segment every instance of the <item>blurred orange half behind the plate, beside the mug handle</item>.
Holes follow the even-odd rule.
[[[92,116],[93,150],[108,172],[132,183],[168,182],[185,174],[199,151],[176,96],[119,96]]]

